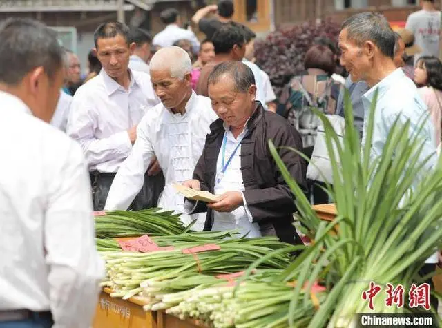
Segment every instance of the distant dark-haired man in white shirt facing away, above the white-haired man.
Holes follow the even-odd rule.
[[[182,21],[178,10],[175,8],[163,10],[160,14],[160,19],[166,27],[153,37],[152,44],[154,46],[170,47],[173,46],[176,41],[186,39],[191,42],[193,53],[198,54],[200,41],[198,41],[195,33],[191,30],[180,28]]]

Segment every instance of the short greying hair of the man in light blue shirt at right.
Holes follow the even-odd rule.
[[[361,12],[347,18],[342,30],[347,29],[349,39],[362,46],[365,41],[372,41],[383,55],[394,57],[396,37],[387,19],[377,12]]]

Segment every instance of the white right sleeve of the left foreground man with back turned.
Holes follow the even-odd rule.
[[[50,311],[55,328],[89,327],[95,313],[104,262],[95,247],[90,181],[75,143],[48,186],[44,248]]]

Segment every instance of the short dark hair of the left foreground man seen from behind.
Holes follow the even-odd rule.
[[[6,19],[0,25],[0,82],[15,86],[37,67],[49,79],[63,68],[64,51],[57,33],[34,19]]]

